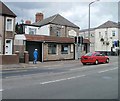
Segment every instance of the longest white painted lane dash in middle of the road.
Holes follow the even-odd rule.
[[[58,79],[58,80],[51,80],[51,81],[46,81],[46,82],[41,82],[41,85],[44,84],[49,84],[49,83],[55,83],[55,82],[60,82],[60,81],[66,81],[66,80],[71,80],[71,79],[76,79],[76,78],[80,78],[80,77],[84,77],[86,75],[80,75],[80,76],[74,76],[74,77],[69,77],[69,78],[64,78],[64,79]]]

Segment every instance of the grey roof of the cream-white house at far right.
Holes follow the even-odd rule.
[[[98,26],[97,28],[118,28],[118,23],[113,21],[107,21],[104,24]]]

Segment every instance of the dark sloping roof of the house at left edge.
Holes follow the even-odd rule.
[[[1,1],[0,1],[0,15],[16,17],[16,15]]]

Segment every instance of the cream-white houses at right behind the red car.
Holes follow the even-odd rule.
[[[118,23],[107,21],[90,30],[90,51],[105,53],[106,55],[118,55],[120,51]],[[80,34],[88,38],[88,30],[81,30]]]

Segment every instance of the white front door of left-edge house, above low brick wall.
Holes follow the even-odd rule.
[[[5,55],[12,55],[12,40],[5,40]]]

